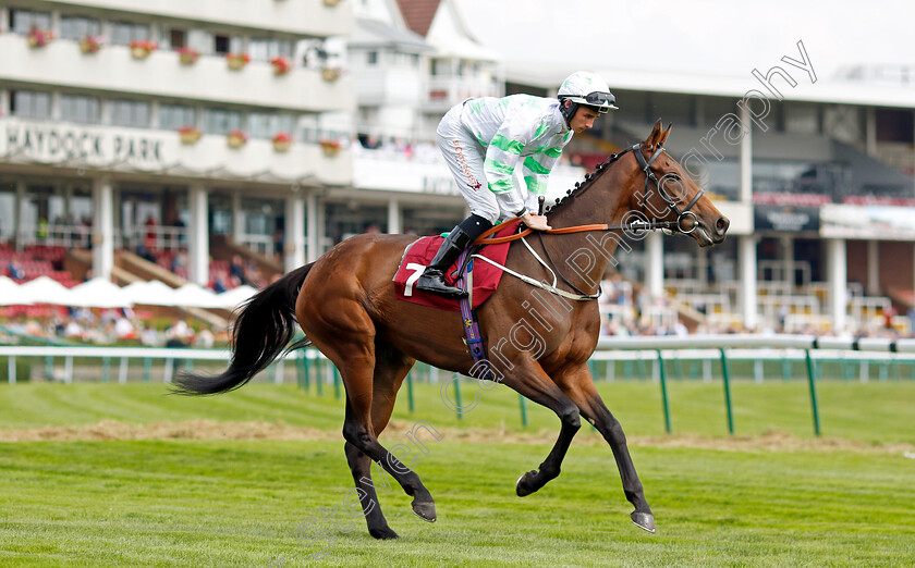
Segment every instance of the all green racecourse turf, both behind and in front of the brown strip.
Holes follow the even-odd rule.
[[[747,450],[658,447],[660,390],[601,383],[610,409],[635,439],[631,452],[658,523],[629,521],[610,449],[575,444],[559,479],[521,499],[514,482],[549,452],[537,444],[455,440],[454,428],[522,431],[517,395],[499,387],[459,420],[435,385],[406,388],[399,422],[382,439],[403,443],[427,420],[416,471],[438,503],[428,524],[399,489],[380,496],[402,539],[373,540],[362,518],[344,533],[322,518],[342,510],[352,480],[340,442],[108,441],[0,443],[0,566],[911,566],[915,564],[915,460],[901,450]],[[915,384],[823,381],[825,434],[873,444],[915,444]],[[209,419],[282,421],[339,431],[343,405],[294,386],[256,383],[206,398],[166,396],[161,384],[0,385],[0,428]],[[462,385],[464,404],[476,385]],[[669,383],[676,434],[727,437],[720,383]],[[452,394],[453,397],[453,394]],[[735,382],[736,431],[813,437],[804,382]],[[527,430],[556,432],[528,403]],[[495,432],[492,430],[490,433]],[[582,439],[597,436],[585,425]],[[424,439],[425,440],[425,439]],[[377,473],[376,473],[377,476]],[[304,546],[319,530],[334,542]],[[344,526],[344,528],[347,528]]]

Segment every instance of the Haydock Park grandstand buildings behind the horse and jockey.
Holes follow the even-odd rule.
[[[268,282],[353,234],[449,230],[465,205],[434,144],[439,118],[467,97],[552,95],[574,71],[507,65],[454,0],[209,5],[0,0],[3,273],[230,289],[233,274]],[[601,302],[607,333],[912,332],[907,71],[813,81],[773,61],[759,70],[781,95],[765,128],[737,106],[761,88],[749,70],[596,71],[620,110],[573,139],[550,195],[663,118],[671,155],[694,158],[731,220],[712,250],[631,243],[605,286],[629,298]],[[736,143],[725,116],[749,126]]]

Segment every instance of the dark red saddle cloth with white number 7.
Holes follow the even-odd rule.
[[[515,232],[521,221],[507,225],[504,229],[496,233],[495,236],[509,236]],[[438,252],[441,242],[444,240],[440,236],[423,237],[415,240],[406,247],[403,254],[398,272],[394,274],[394,288],[398,293],[398,299],[412,301],[422,306],[431,306],[443,310],[461,311],[457,304],[457,298],[448,298],[439,294],[429,294],[416,289],[413,284],[423,274],[423,271],[432,260],[432,257]],[[509,256],[509,245],[511,243],[502,243],[501,245],[487,245],[477,252],[488,259],[491,259],[500,264],[505,263],[505,257]],[[454,284],[457,276],[454,272],[457,270],[457,262],[452,264],[444,273],[444,281],[449,284]],[[502,277],[502,270],[493,267],[485,260],[474,259],[474,304],[473,308],[477,308],[489,296],[496,292],[499,285],[499,280]]]

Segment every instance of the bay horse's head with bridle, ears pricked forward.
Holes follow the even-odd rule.
[[[731,222],[666,151],[670,128],[661,129],[658,121],[648,138],[632,147],[632,160],[642,171],[637,175],[645,181],[635,184],[632,209],[636,219],[688,234],[700,247],[718,245]]]

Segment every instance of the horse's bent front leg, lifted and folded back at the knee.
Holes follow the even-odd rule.
[[[515,493],[524,497],[559,476],[562,459],[575,433],[582,428],[582,422],[578,419],[578,407],[562,394],[537,361],[526,359],[523,365],[512,369],[502,382],[521,395],[556,412],[562,423],[559,437],[540,467],[518,478]]]

